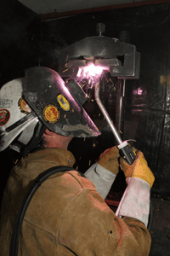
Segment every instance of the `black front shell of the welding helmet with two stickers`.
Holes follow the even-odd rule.
[[[82,90],[79,84],[74,86],[78,86],[78,92]],[[69,84],[65,85],[59,73],[48,67],[31,67],[26,70],[23,95],[50,131],[67,137],[99,136],[100,131],[81,106],[84,95],[81,92],[72,93],[72,96],[69,89]]]

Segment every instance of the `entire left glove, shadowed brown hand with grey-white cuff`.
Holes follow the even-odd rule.
[[[103,199],[108,195],[116,174],[119,172],[119,156],[120,154],[116,147],[106,149],[103,154],[100,154],[99,161],[84,173],[94,183],[95,188]]]

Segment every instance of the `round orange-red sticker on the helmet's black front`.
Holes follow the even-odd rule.
[[[48,104],[43,108],[43,118],[50,124],[58,122],[60,118],[59,108],[54,104]]]

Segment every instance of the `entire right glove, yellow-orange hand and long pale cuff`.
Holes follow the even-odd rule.
[[[120,160],[127,181],[127,189],[122,195],[116,216],[137,218],[147,227],[150,213],[150,188],[155,177],[144,159],[144,154],[138,152],[132,166],[125,160]]]

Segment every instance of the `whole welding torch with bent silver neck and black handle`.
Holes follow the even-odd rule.
[[[136,158],[136,153],[134,152],[133,148],[129,147],[127,141],[122,142],[122,138],[119,136],[119,133],[116,131],[115,125],[113,125],[113,122],[111,121],[109,114],[107,113],[103,103],[101,102],[99,98],[99,81],[94,86],[94,96],[101,112],[105,116],[105,119],[108,125],[111,127],[111,131],[113,132],[113,135],[116,138],[116,142],[118,143],[117,148],[119,149],[119,153],[125,160],[127,160],[127,163],[129,165],[132,165],[133,161]]]

